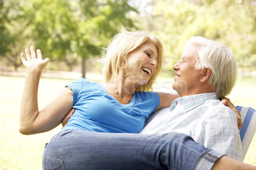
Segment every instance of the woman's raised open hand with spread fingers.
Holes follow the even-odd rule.
[[[24,53],[20,54],[20,58],[23,65],[25,65],[25,67],[29,69],[42,70],[47,65],[50,59],[49,58],[42,59],[43,58],[42,53],[39,49],[36,51],[37,53],[37,57],[36,57],[35,48],[33,46],[30,47],[30,51],[31,51],[31,56],[29,54],[29,49],[26,48],[25,50],[26,58]]]

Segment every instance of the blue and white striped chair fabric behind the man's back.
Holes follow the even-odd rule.
[[[242,142],[243,160],[250,146],[250,142],[256,131],[256,111],[253,108],[245,106],[236,106],[236,109],[241,113],[243,127],[240,130]]]

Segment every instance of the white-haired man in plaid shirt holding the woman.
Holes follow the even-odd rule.
[[[185,133],[205,147],[241,161],[236,114],[219,100],[236,83],[233,52],[218,42],[192,37],[173,69],[172,88],[180,97],[170,108],[153,113],[140,133]]]

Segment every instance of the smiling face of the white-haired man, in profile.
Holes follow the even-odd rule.
[[[177,91],[180,96],[188,96],[198,94],[200,89],[200,79],[202,70],[195,70],[197,46],[190,45],[184,51],[181,60],[177,62],[173,69],[176,71],[174,84],[172,88]]]

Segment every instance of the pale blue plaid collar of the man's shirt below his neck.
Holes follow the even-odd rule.
[[[196,105],[201,105],[208,99],[219,98],[215,92],[179,97],[172,102],[170,111],[173,111],[177,105],[182,106],[184,111],[189,111],[190,108],[194,108]]]

